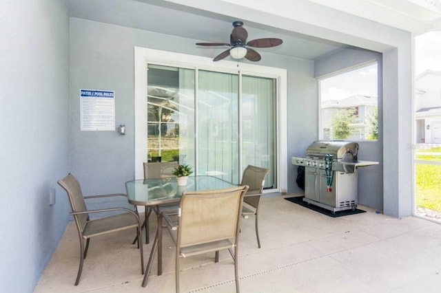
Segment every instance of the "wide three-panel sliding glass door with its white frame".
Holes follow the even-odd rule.
[[[152,58],[156,50],[142,50],[149,53],[142,54],[135,69],[143,85],[135,85],[136,177],[141,177],[138,166],[145,160],[161,157],[161,162],[189,164],[195,175],[233,183],[240,182],[248,164],[262,166],[271,170],[264,188],[283,188],[278,158],[285,153],[286,135],[278,132],[283,127],[276,106],[283,107],[280,93],[285,96],[286,91],[279,89],[283,83],[274,69],[242,65],[240,70],[237,63],[225,68],[229,62],[211,60],[209,66],[195,66],[201,57],[161,52],[170,54],[161,60]],[[181,62],[189,58],[195,61]],[[286,78],[286,71],[281,74]]]

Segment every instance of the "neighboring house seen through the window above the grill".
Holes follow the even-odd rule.
[[[327,100],[321,104],[322,138],[334,139],[332,124],[334,117],[341,109],[355,109],[356,120],[350,127],[353,129],[348,140],[365,140],[371,134],[371,116],[378,105],[375,96],[354,95],[343,100]]]

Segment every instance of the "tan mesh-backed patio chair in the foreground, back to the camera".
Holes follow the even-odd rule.
[[[212,191],[185,191],[181,197],[178,226],[173,223],[167,213],[161,213],[176,244],[176,292],[179,292],[179,260],[182,257],[215,252],[214,261],[217,263],[219,250],[224,249],[228,249],[234,259],[236,292],[239,292],[240,211],[247,189],[248,186],[238,186]],[[234,253],[232,248],[234,248]]]

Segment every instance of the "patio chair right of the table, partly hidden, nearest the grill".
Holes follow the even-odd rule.
[[[263,185],[265,184],[265,177],[269,173],[269,169],[260,168],[258,166],[248,165],[243,171],[242,182],[240,185],[247,185],[249,189],[243,199],[242,215],[247,218],[250,215],[256,217],[256,237],[257,245],[260,248],[259,230],[258,230],[258,215],[260,207],[260,198],[263,193]]]

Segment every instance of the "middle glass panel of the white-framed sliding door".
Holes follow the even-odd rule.
[[[238,76],[198,71],[199,175],[238,183]]]

